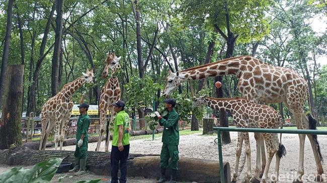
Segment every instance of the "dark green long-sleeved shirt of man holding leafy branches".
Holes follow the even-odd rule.
[[[173,108],[165,117],[159,120],[159,124],[163,126],[161,142],[168,145],[178,145],[180,142],[180,133],[178,129],[179,115]]]

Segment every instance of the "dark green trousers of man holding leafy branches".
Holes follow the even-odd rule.
[[[169,166],[172,169],[178,169],[178,153],[178,145],[168,145],[163,143],[160,153],[160,167],[167,168],[167,166]],[[169,161],[169,159],[171,160]]]

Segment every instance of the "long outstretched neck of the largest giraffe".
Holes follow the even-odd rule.
[[[180,71],[180,78],[186,81],[221,75],[235,75],[238,77],[242,71],[242,68],[244,68],[242,65],[246,64],[247,59],[249,58],[252,59],[252,57],[244,56],[232,57],[217,62],[192,67]]]

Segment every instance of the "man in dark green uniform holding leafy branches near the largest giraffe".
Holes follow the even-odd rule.
[[[167,99],[163,101],[166,103],[166,109],[168,110],[168,115],[161,117],[160,114],[156,111],[155,115],[159,118],[159,124],[163,126],[162,132],[162,148],[160,153],[160,171],[161,175],[158,183],[165,182],[166,168],[169,167],[172,170],[170,182],[176,182],[176,173],[177,173],[177,162],[179,160],[178,156],[178,144],[180,141],[180,134],[178,129],[178,119],[179,115],[175,111],[176,100]],[[171,161],[169,162],[169,159]],[[169,163],[168,163],[169,162]]]

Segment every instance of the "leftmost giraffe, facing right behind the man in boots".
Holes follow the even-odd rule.
[[[57,150],[59,141],[60,150],[62,149],[62,143],[65,135],[64,129],[67,126],[73,107],[71,96],[84,83],[91,83],[93,80],[93,69],[91,69],[91,71],[87,69],[86,73],[83,72],[82,76],[65,84],[57,95],[53,96],[46,103],[44,103],[41,110],[42,135],[40,138],[39,150],[45,150],[46,142],[53,126],[55,126],[55,150]]]

